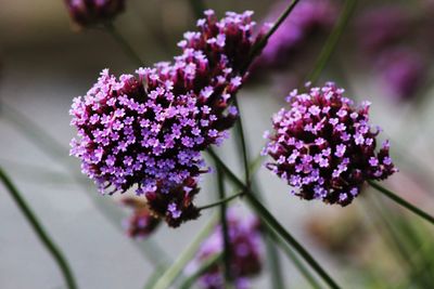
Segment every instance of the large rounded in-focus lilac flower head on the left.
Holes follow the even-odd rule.
[[[74,101],[72,124],[78,137],[71,154],[81,159],[82,172],[102,194],[135,186],[138,195],[162,195],[158,199],[171,199],[174,192],[182,195],[187,186],[180,185],[205,172],[200,150],[225,136],[221,119],[201,109],[194,94],[175,96],[166,75],[153,76],[166,87],[150,82],[144,88],[142,75],[116,79],[103,70],[87,95]],[[195,189],[193,183],[189,185]],[[178,224],[186,221],[177,219]]]

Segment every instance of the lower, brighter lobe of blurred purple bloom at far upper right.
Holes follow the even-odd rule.
[[[378,61],[384,84],[400,100],[410,98],[425,76],[425,65],[417,51],[390,49]]]

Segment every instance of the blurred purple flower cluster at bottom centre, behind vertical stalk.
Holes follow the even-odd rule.
[[[230,241],[231,277],[237,289],[247,289],[250,278],[261,271],[259,221],[254,216],[241,219],[233,211],[228,211],[228,235]],[[221,226],[206,239],[191,266],[200,265],[207,258],[224,251]],[[200,278],[202,288],[222,289],[225,277],[222,264],[216,264]]]

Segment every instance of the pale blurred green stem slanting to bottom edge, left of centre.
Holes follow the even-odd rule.
[[[215,214],[209,222],[200,231],[194,240],[190,242],[189,247],[182,251],[182,253],[175,260],[174,264],[169,266],[155,283],[153,289],[167,289],[175,281],[175,279],[181,274],[187,263],[194,257],[197,248],[200,247],[203,239],[209,235],[216,225],[217,215]]]

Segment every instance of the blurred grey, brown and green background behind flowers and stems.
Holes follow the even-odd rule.
[[[240,93],[252,156],[265,143],[271,115],[314,68],[346,2],[304,1],[314,9],[280,28],[280,39],[270,40],[273,49],[256,63]],[[253,10],[261,24],[276,19],[289,1],[205,2],[219,16]],[[291,30],[294,25],[299,30]],[[350,97],[373,103],[372,123],[384,129],[400,170],[385,185],[429,212],[434,211],[433,25],[433,1],[359,1],[321,76]],[[194,29],[195,19],[188,0],[128,0],[115,26],[152,65],[179,53],[176,43]],[[85,94],[103,68],[119,75],[133,73],[136,65],[110,35],[79,29],[63,1],[1,0],[0,66],[1,167],[64,250],[80,288],[142,288],[155,265],[170,262],[191,242],[212,211],[177,229],[162,225],[146,240],[131,239],[123,226],[131,212],[122,196],[100,196],[68,156],[73,97]],[[241,175],[234,152],[232,140],[219,148]],[[433,229],[411,213],[368,189],[346,208],[302,201],[268,170],[257,175],[272,213],[344,288],[434,286]],[[216,198],[214,179],[203,180],[199,205]],[[0,199],[0,288],[64,288],[3,186]],[[284,254],[281,259],[288,287],[309,288]],[[253,281],[254,288],[269,288],[268,267]]]

